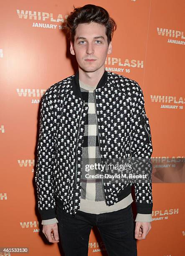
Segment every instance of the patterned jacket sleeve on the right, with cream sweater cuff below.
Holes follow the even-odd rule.
[[[134,182],[135,199],[137,207],[136,221],[152,220],[152,136],[149,119],[144,109],[144,96],[137,82],[134,84],[132,133],[131,133],[131,157],[134,158],[134,172],[147,174],[147,180]],[[142,161],[145,161],[142,164]],[[140,165],[140,166],[139,166]],[[142,167],[141,167],[142,166]],[[142,169],[143,168],[143,169]],[[145,182],[146,181],[146,182]],[[144,217],[144,214],[146,214]]]

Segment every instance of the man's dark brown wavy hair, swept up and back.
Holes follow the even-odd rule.
[[[79,8],[74,7],[73,12],[68,15],[68,18],[65,21],[64,29],[66,29],[69,34],[69,39],[71,39],[72,44],[74,45],[74,36],[76,34],[77,26],[80,23],[91,22],[100,23],[106,27],[106,36],[109,45],[112,41],[114,31],[117,29],[117,25],[104,8],[91,4]]]

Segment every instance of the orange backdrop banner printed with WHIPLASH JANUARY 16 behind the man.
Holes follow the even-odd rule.
[[[185,255],[185,1],[94,0],[117,23],[107,71],[138,82],[153,143],[152,229],[137,241],[139,256]],[[49,243],[38,214],[34,166],[40,101],[74,74],[64,21],[85,0],[4,0],[0,9],[0,256],[3,247],[32,255],[63,255]],[[178,167],[180,166],[180,167]],[[133,202],[134,210],[134,202]],[[134,212],[135,217],[135,212]],[[89,256],[107,255],[96,228]]]

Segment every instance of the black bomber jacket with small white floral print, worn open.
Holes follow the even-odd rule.
[[[94,90],[101,158],[152,155],[152,136],[139,84],[104,71]],[[80,162],[88,104],[79,87],[79,72],[53,84],[41,101],[35,182],[42,220],[56,218],[56,204],[74,216],[80,207]],[[148,172],[152,173],[152,165]],[[109,183],[102,179],[106,205],[135,190],[137,214],[152,213],[152,183]]]

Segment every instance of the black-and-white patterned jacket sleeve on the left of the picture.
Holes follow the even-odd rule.
[[[53,158],[55,154],[56,112],[51,90],[47,90],[41,100],[40,128],[37,146],[35,183],[38,195],[38,211],[42,220],[56,217],[53,189]]]

